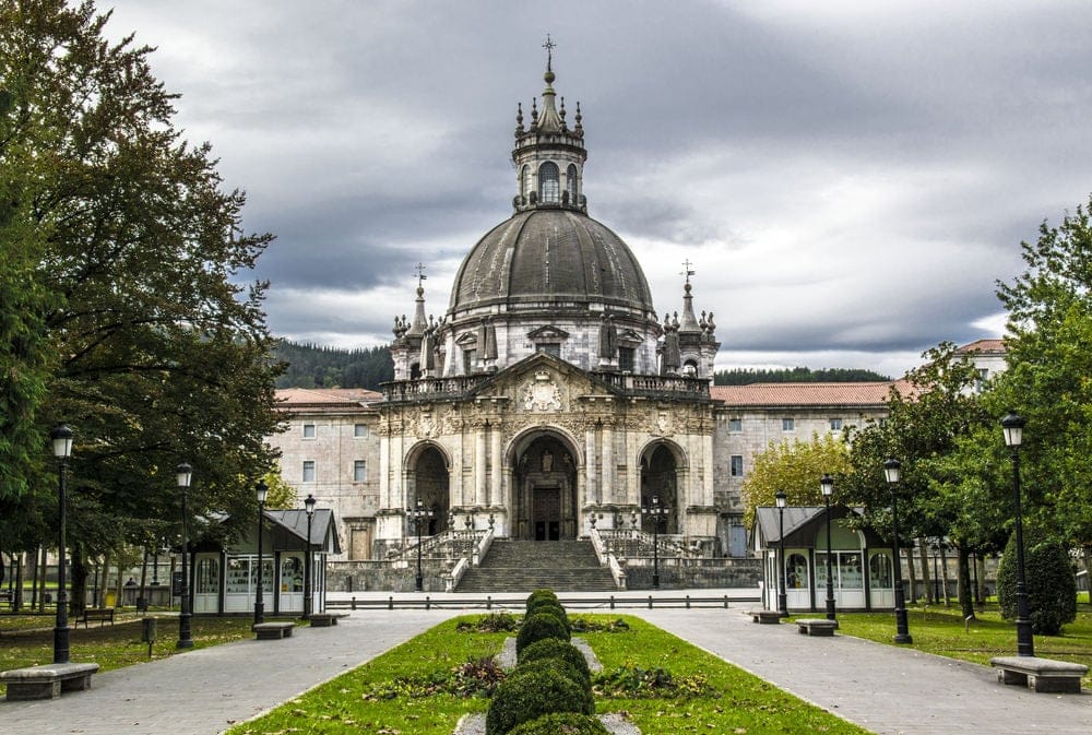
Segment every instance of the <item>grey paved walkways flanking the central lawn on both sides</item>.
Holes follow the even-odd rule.
[[[465,612],[356,610],[337,627],[307,628],[281,641],[240,641],[98,674],[90,691],[0,701],[0,732],[217,735]],[[1092,695],[1002,686],[984,666],[845,636],[799,636],[795,626],[756,625],[740,607],[617,613],[639,615],[881,735],[1092,732]]]

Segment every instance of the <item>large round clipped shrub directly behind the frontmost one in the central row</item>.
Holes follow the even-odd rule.
[[[586,688],[559,669],[529,667],[497,685],[486,713],[485,732],[505,735],[521,723],[554,712],[592,714],[587,701]]]

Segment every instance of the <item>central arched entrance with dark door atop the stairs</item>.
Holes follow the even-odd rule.
[[[560,437],[545,432],[530,439],[515,455],[512,477],[513,538],[577,537],[577,462]]]

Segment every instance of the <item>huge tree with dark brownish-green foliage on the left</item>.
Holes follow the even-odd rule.
[[[37,440],[61,419],[76,431],[74,565],[149,519],[177,519],[179,461],[194,469],[194,514],[252,505],[239,478],[272,466],[264,437],[278,428],[268,284],[236,282],[272,238],[235,235],[245,195],[223,191],[211,147],[174,128],[152,49],[104,38],[108,17],[90,1],[0,5],[0,193],[24,244],[22,270],[0,276],[20,295],[0,360],[33,368],[19,420]],[[22,349],[20,334],[44,334],[51,359]],[[33,432],[4,431],[17,441],[0,452],[33,451],[19,449]]]

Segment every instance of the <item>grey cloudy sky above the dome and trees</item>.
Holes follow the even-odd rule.
[[[720,368],[900,376],[999,336],[1020,241],[1092,190],[1092,3],[100,0],[157,47],[244,226],[276,241],[276,334],[391,339],[414,266],[441,315],[511,214],[515,105],[581,103],[589,213],[660,312],[716,315]]]

